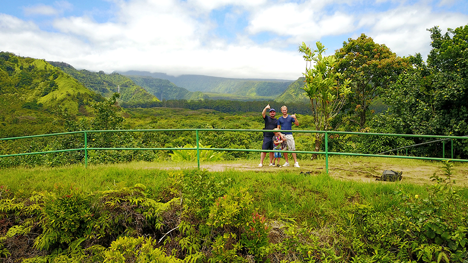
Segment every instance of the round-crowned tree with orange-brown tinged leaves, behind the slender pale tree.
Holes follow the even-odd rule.
[[[343,42],[335,56],[338,60],[336,71],[351,79],[352,94],[344,108],[350,115],[349,120],[362,129],[372,100],[379,96],[381,90],[388,89],[398,75],[408,70],[408,58],[396,56],[387,46],[375,43],[364,34]]]

